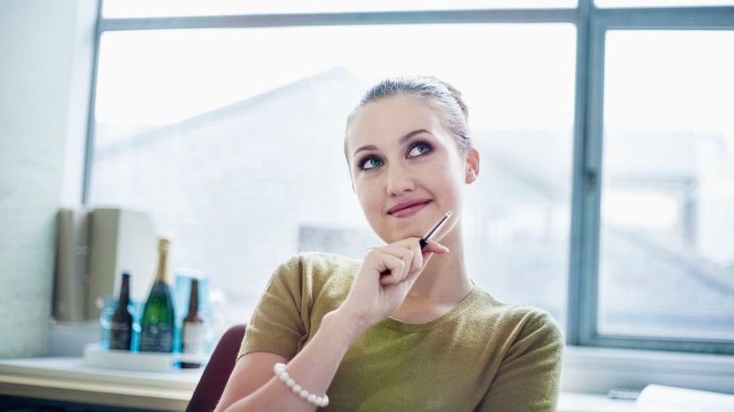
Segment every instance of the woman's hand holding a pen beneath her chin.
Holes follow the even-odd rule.
[[[433,241],[421,251],[419,241],[419,237],[408,237],[367,249],[347,299],[335,311],[354,323],[356,334],[361,336],[402,304],[433,253],[449,252]]]

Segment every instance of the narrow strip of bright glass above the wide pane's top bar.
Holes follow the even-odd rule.
[[[576,0],[424,0],[345,2],[342,0],[243,2],[241,0],[105,0],[105,18],[213,16],[312,12],[395,12],[468,9],[574,8]]]

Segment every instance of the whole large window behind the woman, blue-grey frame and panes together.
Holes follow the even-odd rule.
[[[136,4],[103,7],[85,203],[150,211],[172,264],[226,291],[228,322],[293,253],[381,243],[347,114],[383,77],[431,74],[463,92],[481,154],[472,280],[549,310],[572,344],[734,353],[734,37],[716,17],[734,8],[652,31],[661,9],[590,0]]]

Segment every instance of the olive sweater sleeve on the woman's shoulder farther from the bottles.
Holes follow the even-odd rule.
[[[564,338],[547,312],[523,325],[476,411],[553,412],[558,407]]]

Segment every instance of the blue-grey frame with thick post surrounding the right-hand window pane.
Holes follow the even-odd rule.
[[[569,268],[569,337],[579,346],[734,354],[734,342],[693,338],[646,338],[602,335],[597,330],[598,273],[603,159],[605,37],[609,30],[732,30],[734,7],[675,7],[589,10],[589,35],[584,41],[585,84],[577,89],[582,119],[574,131],[574,191]],[[580,30],[581,31],[581,30]],[[581,39],[579,39],[581,41]],[[584,65],[583,62],[580,66]],[[577,66],[579,70],[580,66]],[[587,77],[588,74],[588,77]],[[577,83],[578,84],[578,83]],[[581,96],[586,89],[585,97]],[[586,99],[588,105],[582,105]],[[579,115],[580,112],[577,112]],[[572,292],[573,291],[573,292]],[[575,308],[575,310],[572,310]],[[581,315],[588,314],[588,315]]]

